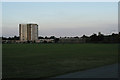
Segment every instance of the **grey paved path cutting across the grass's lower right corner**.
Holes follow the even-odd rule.
[[[52,78],[118,78],[118,64],[112,64],[85,71],[68,73]]]

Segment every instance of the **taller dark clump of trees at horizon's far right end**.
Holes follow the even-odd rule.
[[[120,43],[120,32],[118,34],[104,35],[100,32],[91,36],[83,35],[81,38],[85,39],[86,43]]]

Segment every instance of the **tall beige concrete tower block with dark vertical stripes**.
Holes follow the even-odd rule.
[[[38,25],[37,24],[19,24],[19,35],[20,35],[21,41],[38,40]]]

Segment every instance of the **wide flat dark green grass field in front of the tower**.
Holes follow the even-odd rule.
[[[117,62],[118,44],[3,44],[3,78],[43,78]]]

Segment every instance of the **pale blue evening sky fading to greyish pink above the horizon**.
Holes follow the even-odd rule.
[[[18,36],[21,23],[37,23],[39,36],[82,36],[118,31],[117,2],[3,2],[2,36]]]

